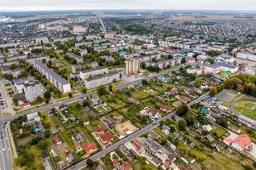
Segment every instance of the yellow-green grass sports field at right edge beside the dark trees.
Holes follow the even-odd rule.
[[[234,109],[241,115],[256,120],[256,102],[240,101],[236,103]]]

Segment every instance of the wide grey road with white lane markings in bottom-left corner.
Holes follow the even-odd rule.
[[[6,129],[1,125],[0,127],[0,170],[12,170],[13,160],[11,150],[9,147]]]

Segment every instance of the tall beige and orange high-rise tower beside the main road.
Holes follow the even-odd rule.
[[[139,59],[126,59],[125,60],[125,74],[137,75],[140,72],[140,60]]]

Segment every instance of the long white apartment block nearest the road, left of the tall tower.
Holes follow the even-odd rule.
[[[84,80],[85,88],[96,88],[108,83],[113,82],[113,80],[119,81],[121,79],[120,72],[98,75],[96,77],[91,77]]]

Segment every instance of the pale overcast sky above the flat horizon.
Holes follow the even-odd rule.
[[[53,9],[256,10],[256,0],[0,0],[0,11]]]

